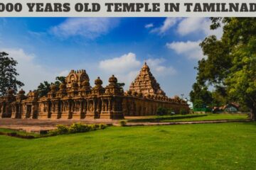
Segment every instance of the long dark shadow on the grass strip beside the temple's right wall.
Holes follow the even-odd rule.
[[[158,123],[163,120],[179,120],[179,119],[185,119],[185,118],[198,118],[198,117],[204,117],[207,115],[186,115],[186,116],[171,116],[171,117],[158,117],[158,118],[145,118],[145,119],[133,119],[133,120],[128,120],[128,123],[144,123],[144,122],[149,122],[149,123]]]

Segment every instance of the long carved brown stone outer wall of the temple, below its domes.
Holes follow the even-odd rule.
[[[55,99],[0,103],[1,118],[33,119],[122,119],[124,116],[156,115],[159,107],[175,113],[189,112],[186,103],[161,101],[138,96]]]

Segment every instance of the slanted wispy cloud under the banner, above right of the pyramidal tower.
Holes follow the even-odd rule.
[[[167,30],[169,30],[171,27],[173,27],[180,18],[166,18],[164,20],[164,23],[159,28],[154,28],[151,30],[151,33],[159,33],[160,35],[163,35],[166,33]]]

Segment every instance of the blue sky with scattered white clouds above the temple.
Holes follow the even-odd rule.
[[[114,74],[127,90],[146,61],[168,96],[188,96],[204,57],[198,44],[222,35],[209,26],[208,18],[0,18],[0,51],[18,61],[25,91],[70,69],[85,69],[92,86]]]

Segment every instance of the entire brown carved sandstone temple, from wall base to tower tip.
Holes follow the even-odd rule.
[[[161,90],[148,65],[124,92],[112,75],[109,85],[103,87],[100,77],[95,86],[85,70],[71,70],[65,83],[50,86],[47,96],[38,97],[36,91],[21,89],[18,94],[9,89],[0,98],[1,118],[33,119],[122,119],[126,115],[156,115],[159,107],[171,108],[175,113],[188,112],[186,101],[178,96],[168,98]]]

